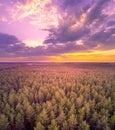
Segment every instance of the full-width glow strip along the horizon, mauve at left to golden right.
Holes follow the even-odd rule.
[[[2,62],[115,62],[115,49],[106,51],[72,52],[51,56],[6,57]]]

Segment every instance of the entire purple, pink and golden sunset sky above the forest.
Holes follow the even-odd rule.
[[[115,62],[115,0],[0,0],[0,62]]]

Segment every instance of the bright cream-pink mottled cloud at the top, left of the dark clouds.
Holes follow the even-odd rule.
[[[51,4],[52,0],[17,0],[14,6],[8,8],[13,21],[30,19],[30,24],[39,29],[57,26],[57,9]]]

